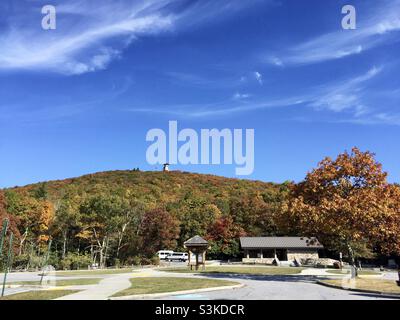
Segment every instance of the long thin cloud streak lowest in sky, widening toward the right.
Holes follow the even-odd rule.
[[[156,112],[181,117],[210,117],[221,116],[255,110],[303,106],[315,111],[346,113],[348,119],[355,122],[367,122],[368,119],[381,118],[383,113],[370,109],[365,102],[364,86],[369,80],[376,77],[383,67],[372,67],[366,73],[326,85],[310,88],[303,95],[285,96],[277,98],[241,99],[242,94],[237,93],[232,99],[211,104],[169,105],[159,108],[128,108],[131,112]],[[247,97],[246,98],[252,98]],[[379,116],[381,114],[381,116]],[[389,119],[389,114],[386,114]],[[341,121],[341,120],[339,120]],[[372,120],[370,120],[372,121]]]

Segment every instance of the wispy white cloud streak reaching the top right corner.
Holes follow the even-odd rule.
[[[379,8],[371,8],[369,17],[359,16],[356,30],[326,33],[297,44],[277,55],[264,57],[267,63],[282,65],[312,64],[341,59],[379,45],[398,41],[400,31],[400,1],[379,2]],[[340,18],[340,16],[338,17]]]

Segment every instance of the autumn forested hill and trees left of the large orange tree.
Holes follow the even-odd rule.
[[[3,190],[16,263],[34,264],[52,239],[53,264],[150,259],[198,234],[213,257],[239,254],[241,235],[274,235],[287,184],[179,171],[110,171]],[[86,260],[85,260],[86,259]]]

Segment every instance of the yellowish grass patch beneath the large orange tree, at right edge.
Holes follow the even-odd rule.
[[[363,289],[363,290],[373,290],[385,293],[399,293],[400,287],[393,280],[382,280],[382,279],[366,279],[366,278],[356,278],[353,282],[349,280],[343,281],[340,279],[335,280],[324,280],[328,284],[333,284],[341,288],[353,288],[353,289]]]

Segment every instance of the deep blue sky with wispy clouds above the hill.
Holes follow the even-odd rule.
[[[41,28],[47,4],[56,30]],[[160,170],[145,137],[170,120],[254,128],[249,179],[299,181],[357,146],[400,182],[399,40],[398,0],[3,0],[0,187]]]

